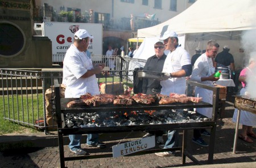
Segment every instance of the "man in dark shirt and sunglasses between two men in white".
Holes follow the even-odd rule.
[[[154,45],[155,55],[148,58],[143,70],[146,71],[155,71],[162,72],[164,61],[166,60],[166,54],[164,54],[164,45],[163,42],[156,42]],[[160,93],[161,85],[159,80],[154,79],[143,79],[142,92],[145,94],[154,95],[156,93]]]

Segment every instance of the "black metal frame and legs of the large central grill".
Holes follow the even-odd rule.
[[[131,132],[131,131],[144,131],[144,130],[183,130],[183,143],[181,147],[171,148],[171,149],[151,149],[151,150],[144,150],[141,152],[137,152],[133,155],[141,155],[147,153],[156,153],[156,152],[164,152],[164,151],[172,151],[172,150],[181,150],[182,153],[182,163],[185,164],[185,157],[187,156],[193,162],[197,164],[201,164],[195,157],[193,157],[188,151],[187,148],[187,131],[199,128],[210,128],[210,142],[209,142],[209,152],[208,152],[208,163],[213,163],[213,152],[214,152],[214,141],[216,135],[216,125],[217,125],[217,101],[219,96],[219,88],[211,87],[204,84],[199,84],[193,81],[187,81],[187,87],[197,86],[202,87],[205,89],[209,89],[213,91],[213,117],[208,122],[197,122],[197,123],[175,123],[175,124],[157,124],[158,127],[154,125],[140,125],[140,126],[117,126],[117,127],[86,127],[86,128],[64,128],[64,110],[61,109],[61,100],[60,100],[60,89],[59,83],[57,80],[54,80],[55,84],[55,107],[56,107],[56,116],[57,116],[57,126],[58,126],[58,137],[59,137],[59,153],[60,153],[60,166],[65,167],[65,161],[72,161],[72,160],[82,160],[82,159],[92,159],[92,158],[104,158],[104,157],[112,157],[112,154],[97,154],[92,156],[79,156],[79,157],[65,157],[64,156],[64,147],[63,147],[63,135],[67,134],[83,134],[83,133],[108,133],[108,132]],[[188,89],[187,89],[188,90]],[[189,95],[188,95],[189,96]],[[150,106],[148,106],[150,107]],[[184,109],[189,108],[189,106],[183,106]],[[192,107],[195,107],[192,106]],[[198,106],[200,107],[200,106]],[[201,106],[205,107],[205,106]],[[159,107],[155,107],[158,109]],[[164,106],[164,109],[178,109],[180,107],[175,106]],[[131,108],[134,110],[133,108]],[[130,110],[131,110],[130,109]],[[141,109],[141,107],[140,107]],[[66,109],[67,110],[67,109]],[[127,107],[126,107],[127,110]],[[141,109],[142,110],[142,109]],[[72,113],[72,110],[69,110],[69,113]],[[159,127],[160,126],[160,127]]]

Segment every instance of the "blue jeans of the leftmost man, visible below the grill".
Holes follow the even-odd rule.
[[[82,137],[81,134],[69,135],[68,137],[70,140],[68,147],[71,150],[81,149],[81,143],[80,143],[80,140]],[[86,144],[92,145],[96,143],[98,143],[98,133],[87,134]]]

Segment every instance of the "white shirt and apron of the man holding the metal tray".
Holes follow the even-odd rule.
[[[178,46],[174,51],[168,53],[164,62],[163,72],[176,72],[182,70],[182,66],[191,64],[191,58],[186,50]],[[186,90],[185,77],[172,77],[160,81],[161,93],[169,96],[170,93],[184,94]]]

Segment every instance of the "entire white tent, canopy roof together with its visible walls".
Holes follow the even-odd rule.
[[[256,1],[197,0],[164,23],[138,29],[138,37],[161,36],[167,29],[185,36],[184,48],[191,56],[195,54],[195,48],[205,49],[207,41],[212,39],[220,44],[220,51],[224,45],[229,45],[230,53],[234,54],[241,46],[241,32],[256,29]],[[141,57],[135,55],[135,58]]]

